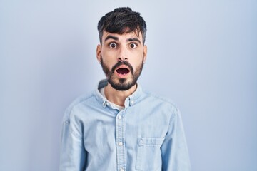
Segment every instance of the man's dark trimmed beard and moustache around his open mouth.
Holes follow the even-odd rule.
[[[135,70],[133,66],[128,61],[118,61],[112,68],[111,71],[109,71],[108,67],[106,64],[103,62],[103,59],[101,57],[101,66],[103,68],[104,73],[106,74],[106,78],[108,83],[111,85],[116,90],[124,91],[124,90],[129,90],[131,87],[136,85],[136,82],[143,70],[143,60],[140,66],[138,66]],[[130,73],[131,73],[131,80],[129,78],[115,78],[115,71],[116,68],[118,68],[121,65],[125,65],[129,67]]]

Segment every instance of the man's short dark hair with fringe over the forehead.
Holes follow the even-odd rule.
[[[129,7],[116,8],[114,11],[103,16],[97,26],[99,31],[100,43],[103,32],[109,33],[131,33],[134,31],[137,36],[139,33],[143,36],[143,44],[146,41],[146,21],[143,20],[141,14],[132,11]]]

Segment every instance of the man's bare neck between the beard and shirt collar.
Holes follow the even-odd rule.
[[[134,93],[136,91],[136,85],[131,87],[129,90],[116,90],[108,83],[106,88],[104,89],[104,94],[106,95],[106,98],[116,105],[124,106],[125,100],[129,95]]]

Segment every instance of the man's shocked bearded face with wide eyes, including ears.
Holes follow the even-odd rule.
[[[102,44],[96,49],[108,82],[116,90],[129,90],[136,84],[146,53],[142,35],[134,32],[119,35],[104,31]]]

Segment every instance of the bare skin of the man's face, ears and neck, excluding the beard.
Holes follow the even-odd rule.
[[[136,33],[116,34],[104,31],[102,36],[102,43],[97,45],[96,58],[99,63],[104,64],[109,71],[118,61],[128,61],[133,67],[136,68],[145,63],[147,55],[147,46],[143,45],[143,37],[141,34],[136,36]],[[127,68],[121,66],[121,68]],[[122,75],[114,72],[112,78],[115,82],[119,82],[120,78],[124,78],[128,83],[133,79],[132,73]],[[106,98],[116,105],[124,106],[126,98],[136,90],[136,85],[132,86],[129,90],[116,90],[109,83],[105,88]]]

